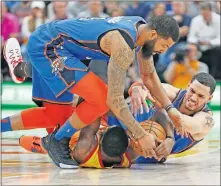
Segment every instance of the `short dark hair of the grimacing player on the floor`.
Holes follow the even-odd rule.
[[[200,72],[200,73],[194,75],[192,80],[191,80],[191,83],[194,80],[197,80],[201,84],[209,87],[210,88],[210,94],[213,94],[213,92],[216,89],[216,80],[213,78],[213,76],[211,76],[210,74],[208,74],[206,72]]]

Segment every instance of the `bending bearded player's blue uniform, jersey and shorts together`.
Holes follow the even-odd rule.
[[[110,56],[100,48],[102,36],[118,30],[135,49],[137,28],[144,23],[141,17],[114,17],[67,19],[39,26],[27,47],[33,66],[33,99],[70,104],[73,95],[69,90],[90,71],[82,60],[109,61]]]

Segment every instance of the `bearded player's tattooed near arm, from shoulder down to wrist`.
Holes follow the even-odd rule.
[[[136,139],[145,136],[145,131],[132,116],[124,99],[126,72],[134,59],[134,51],[128,46],[119,31],[106,34],[106,45],[109,45],[110,61],[108,65],[107,105]]]

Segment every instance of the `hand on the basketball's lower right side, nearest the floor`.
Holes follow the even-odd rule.
[[[155,150],[158,157],[158,161],[160,161],[162,158],[167,158],[167,156],[170,155],[174,144],[174,139],[166,138],[165,140],[163,140],[163,142]]]

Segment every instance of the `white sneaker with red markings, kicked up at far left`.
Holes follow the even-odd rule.
[[[6,41],[4,46],[4,57],[9,66],[9,72],[12,80],[15,83],[22,83],[25,80],[25,77],[20,78],[15,76],[14,69],[15,67],[23,62],[23,58],[21,55],[21,47],[15,38],[10,38]]]

